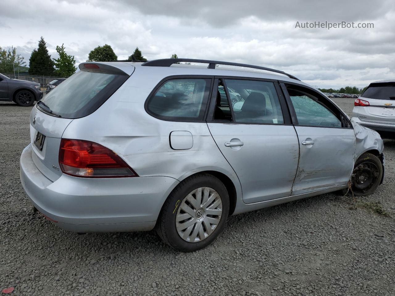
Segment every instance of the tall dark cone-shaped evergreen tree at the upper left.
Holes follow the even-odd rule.
[[[55,71],[53,66],[53,60],[48,53],[47,43],[41,36],[40,41],[38,41],[38,49],[34,49],[30,55],[29,74],[52,76]]]

